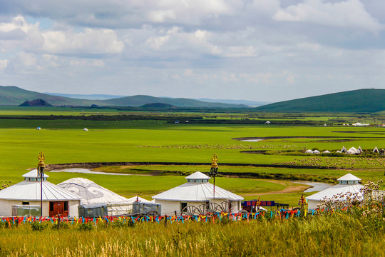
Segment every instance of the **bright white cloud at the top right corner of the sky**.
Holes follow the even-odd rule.
[[[384,26],[371,16],[359,0],[326,2],[305,0],[277,11],[275,21],[310,21],[316,24],[379,32]]]

